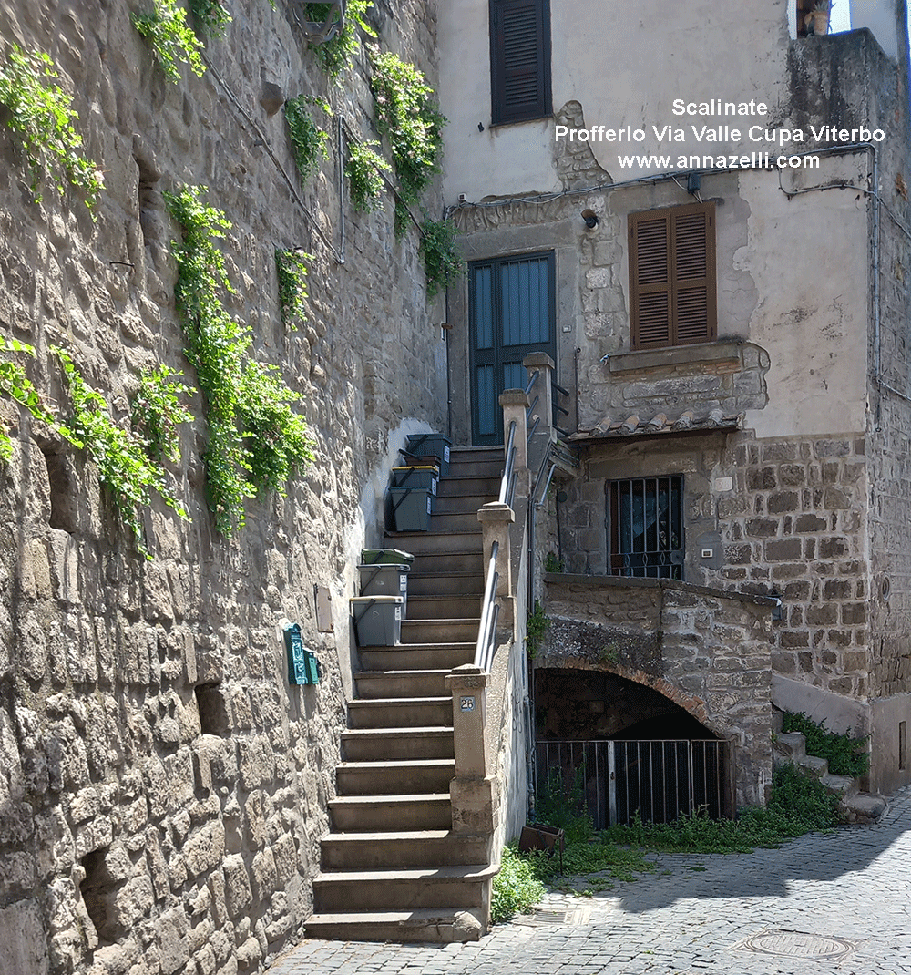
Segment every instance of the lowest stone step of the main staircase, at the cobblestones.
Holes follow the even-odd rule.
[[[305,928],[308,938],[330,941],[397,941],[403,944],[423,942],[437,945],[479,941],[481,932],[477,919],[459,908],[315,914],[308,919]]]

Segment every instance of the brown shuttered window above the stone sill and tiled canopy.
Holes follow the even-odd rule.
[[[715,207],[629,215],[630,347],[715,338]]]

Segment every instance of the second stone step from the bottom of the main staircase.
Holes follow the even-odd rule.
[[[461,908],[483,903],[483,884],[497,872],[486,864],[414,867],[319,874],[313,880],[314,910],[341,911]]]

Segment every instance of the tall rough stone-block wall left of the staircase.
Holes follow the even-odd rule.
[[[317,459],[219,537],[195,396],[171,468],[192,521],[154,503],[147,562],[95,466],[4,400],[16,449],[0,473],[0,968],[29,975],[235,975],[300,937],[345,722],[347,599],[358,550],[377,540],[371,486],[407,429],[445,419],[441,314],[414,234],[394,239],[389,198],[385,213],[355,215],[335,158],[301,187],[270,102],[268,86],[327,96],[375,137],[363,55],[330,88],[292,8],[255,0],[232,5],[205,76],[171,84],[130,22],[147,6],[0,3],[0,35],[56,61],[106,183],[96,221],[50,185],[34,204],[4,129],[0,327],[36,346],[29,375],[63,412],[52,343],[120,421],[140,370],[161,362],[195,381],[162,192],[208,185],[233,222],[229,310],[301,393]],[[434,5],[372,16],[380,42],[435,84]],[[299,331],[281,323],[276,247],[314,255]],[[331,600],[321,626],[317,583]],[[321,661],[317,686],[287,683],[284,617]]]

